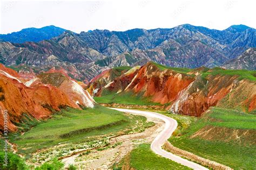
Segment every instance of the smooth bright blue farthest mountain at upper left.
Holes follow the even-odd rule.
[[[39,42],[49,40],[62,34],[65,29],[53,25],[42,27],[41,29],[28,28],[9,34],[0,34],[0,41],[23,43],[26,41]]]

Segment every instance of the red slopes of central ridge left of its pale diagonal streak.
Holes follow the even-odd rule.
[[[149,62],[143,67],[134,67],[121,76],[110,78],[107,74],[101,75],[89,85],[89,89],[96,90],[96,96],[100,96],[103,90],[118,93],[132,91],[134,94],[151,97],[153,102],[165,104],[175,101],[178,93],[193,80],[193,76],[167,69],[162,71]],[[98,86],[103,81],[104,85]]]

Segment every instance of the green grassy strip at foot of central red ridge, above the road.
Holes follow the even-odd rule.
[[[142,95],[134,95],[131,92],[122,92],[119,94],[102,94],[101,97],[93,97],[97,103],[119,103],[119,104],[137,104],[137,105],[160,105],[150,101],[148,97]]]

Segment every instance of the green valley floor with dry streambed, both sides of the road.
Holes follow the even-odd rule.
[[[255,167],[255,115],[220,108],[211,108],[198,119],[157,112],[178,122],[169,139],[172,145],[234,169]],[[98,105],[95,109],[65,109],[28,131],[12,134],[10,141],[12,149],[32,167],[57,157],[66,168],[72,164],[78,169],[189,169],[152,152],[150,144],[164,130],[165,122],[144,116]],[[149,163],[152,161],[154,164]]]

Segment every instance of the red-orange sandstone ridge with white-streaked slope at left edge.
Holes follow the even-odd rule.
[[[44,119],[52,110],[93,107],[95,103],[87,91],[63,74],[45,73],[22,83],[14,70],[0,67],[0,106],[2,111],[8,110],[9,131],[16,131],[15,123],[22,122],[25,115]],[[0,129],[3,130],[3,116]]]

